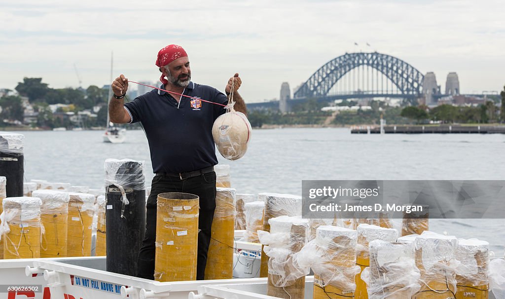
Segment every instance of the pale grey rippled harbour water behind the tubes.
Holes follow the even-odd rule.
[[[121,144],[104,143],[102,131],[27,131],[25,179],[104,185],[108,158],[145,161],[153,178],[141,130],[127,131]],[[302,180],[501,180],[505,176],[503,134],[350,134],[345,128],[254,130],[246,155],[231,167],[239,193],[301,194]],[[505,211],[504,211],[505,218]],[[502,257],[505,219],[430,220],[430,229],[490,243]]]

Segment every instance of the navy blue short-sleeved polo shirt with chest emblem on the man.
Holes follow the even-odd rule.
[[[164,86],[160,86],[164,89]],[[228,104],[214,87],[189,82],[182,94]],[[149,143],[153,171],[179,173],[218,164],[212,125],[226,112],[223,106],[153,89],[125,103],[132,123],[141,122]]]

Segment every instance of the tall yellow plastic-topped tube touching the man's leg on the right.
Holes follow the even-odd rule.
[[[235,189],[216,188],[216,210],[212,220],[205,279],[233,278],[235,196]]]

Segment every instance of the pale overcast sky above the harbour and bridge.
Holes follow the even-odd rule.
[[[235,72],[246,102],[279,97],[345,52],[377,51],[448,72],[463,93],[505,84],[501,0],[55,1],[0,4],[0,88],[23,77],[50,87],[110,84],[114,74],[156,81],[158,51],[182,45],[192,81],[224,89]],[[359,46],[354,43],[357,42]],[[366,43],[371,46],[366,46]]]

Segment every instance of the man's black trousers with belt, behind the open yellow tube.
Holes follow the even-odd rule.
[[[207,252],[211,241],[212,219],[216,209],[216,173],[214,171],[184,180],[169,176],[155,176],[153,178],[151,193],[147,198],[145,235],[138,254],[137,276],[154,280],[157,198],[158,194],[165,192],[191,193],[199,197],[196,279],[203,280],[205,279]]]

